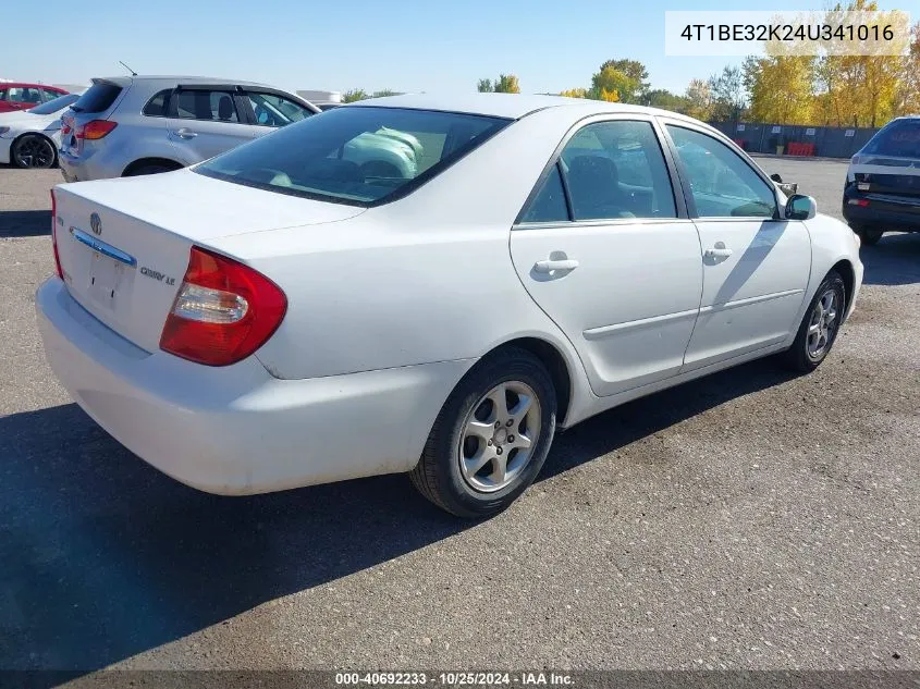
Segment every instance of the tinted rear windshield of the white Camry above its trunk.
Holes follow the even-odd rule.
[[[405,196],[510,122],[430,110],[335,108],[194,170],[280,194],[375,206]]]

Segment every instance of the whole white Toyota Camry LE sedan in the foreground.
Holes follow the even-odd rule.
[[[431,164],[335,155],[381,127]],[[557,428],[771,354],[814,369],[862,281],[854,233],[725,136],[599,101],[376,99],[52,197],[52,369],[143,459],[222,494],[405,471],[490,515]]]

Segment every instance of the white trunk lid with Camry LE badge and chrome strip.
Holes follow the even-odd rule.
[[[155,352],[193,245],[345,220],[364,209],[231,185],[188,170],[54,188],[58,254],[71,295]]]

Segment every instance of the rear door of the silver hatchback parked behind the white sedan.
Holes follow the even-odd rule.
[[[169,139],[187,164],[253,140],[232,86],[179,86],[169,101]]]

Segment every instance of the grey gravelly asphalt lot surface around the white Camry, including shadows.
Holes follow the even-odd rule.
[[[839,216],[846,167],[760,160]],[[832,356],[559,438],[458,522],[385,477],[245,499],[149,468],[45,364],[58,171],[0,168],[0,668],[920,669],[920,235]]]

